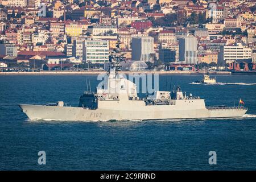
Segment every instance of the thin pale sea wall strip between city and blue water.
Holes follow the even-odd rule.
[[[42,72],[0,72],[0,75],[98,75],[106,71],[42,71]],[[151,73],[159,75],[203,75],[204,71],[122,71],[125,74]],[[232,75],[229,71],[212,71],[210,75]]]

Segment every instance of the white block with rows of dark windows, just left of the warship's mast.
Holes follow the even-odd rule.
[[[105,40],[85,40],[82,46],[82,59],[91,64],[108,63],[109,42]]]

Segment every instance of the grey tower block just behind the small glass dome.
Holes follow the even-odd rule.
[[[133,37],[131,59],[134,61],[154,61],[154,38],[151,36]]]

